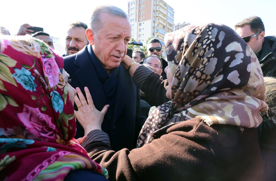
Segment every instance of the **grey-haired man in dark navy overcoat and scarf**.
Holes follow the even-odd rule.
[[[86,37],[89,45],[64,57],[70,84],[79,87],[84,95],[87,86],[98,110],[110,105],[102,130],[109,135],[113,150],[133,149],[145,117],[140,116],[139,90],[120,64],[131,38],[127,14],[115,6],[97,7],[91,16],[91,27],[86,29]],[[77,122],[75,137],[82,136],[84,130]]]

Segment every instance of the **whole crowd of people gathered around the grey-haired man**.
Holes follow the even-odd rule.
[[[63,57],[28,28],[1,27],[0,180],[276,179],[276,38],[259,17],[167,33],[166,60],[157,38],[126,55],[115,6],[69,25]]]

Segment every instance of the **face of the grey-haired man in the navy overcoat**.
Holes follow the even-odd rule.
[[[106,71],[118,67],[127,53],[127,45],[131,37],[131,27],[125,18],[101,15],[103,27],[95,37],[92,30],[86,31],[93,52]]]

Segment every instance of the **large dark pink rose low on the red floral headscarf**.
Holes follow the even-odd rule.
[[[28,132],[33,134],[35,138],[44,137],[47,141],[56,139],[54,129],[56,126],[52,123],[51,117],[39,111],[38,108],[33,108],[24,104],[23,112],[17,113],[20,121],[25,125]]]

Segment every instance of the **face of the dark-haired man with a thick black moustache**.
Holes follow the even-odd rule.
[[[66,54],[72,55],[79,52],[87,45],[85,29],[80,27],[72,27],[67,31],[66,37]]]

